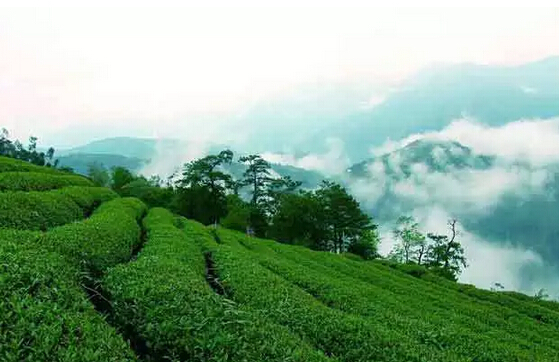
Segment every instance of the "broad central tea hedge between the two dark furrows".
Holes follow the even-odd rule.
[[[188,222],[190,223],[190,222]],[[177,229],[173,215],[152,209],[138,258],[111,269],[103,288],[117,323],[169,361],[327,361],[322,353],[216,294],[205,278],[202,225]],[[178,223],[180,224],[180,223]]]

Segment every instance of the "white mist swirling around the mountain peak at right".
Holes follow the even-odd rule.
[[[417,140],[457,141],[472,150],[467,157],[489,155],[494,156],[494,162],[488,167],[455,167],[445,159],[442,149],[434,147],[431,156],[435,162],[451,166],[441,170],[418,162],[411,165],[411,175],[406,177],[401,171],[405,153],[397,150]],[[459,146],[445,145],[452,148],[453,156],[464,152]],[[375,156],[389,152],[387,162],[376,158],[367,165],[368,177],[349,181],[354,195],[366,208],[377,206],[378,210],[379,200],[391,193],[393,200],[398,200],[397,205],[388,205],[395,214],[413,215],[426,232],[448,233],[449,218],[468,215],[482,219],[504,196],[519,200],[535,195],[554,197],[547,194],[546,185],[555,173],[551,166],[559,162],[559,118],[519,120],[500,127],[465,118],[441,131],[410,135],[372,150]],[[389,224],[381,225],[383,253],[394,245]],[[558,269],[536,251],[506,240],[485,240],[465,229],[460,241],[470,264],[460,278],[462,282],[482,288],[498,282],[508,290],[528,294],[544,288],[552,297],[559,297],[554,282]],[[527,270],[531,271],[529,278]]]

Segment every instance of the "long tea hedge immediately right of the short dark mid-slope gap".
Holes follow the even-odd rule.
[[[218,274],[235,301],[288,327],[328,356],[341,361],[459,361],[447,351],[414,343],[401,331],[331,308],[262,266],[228,232],[214,247]]]

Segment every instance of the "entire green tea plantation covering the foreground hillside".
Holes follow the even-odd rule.
[[[0,361],[559,361],[559,305],[0,158]]]

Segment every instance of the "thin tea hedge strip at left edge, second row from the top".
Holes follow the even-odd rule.
[[[66,186],[93,186],[77,175],[50,175],[42,172],[2,172],[0,191],[46,191]]]

